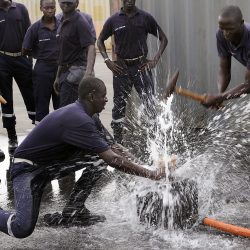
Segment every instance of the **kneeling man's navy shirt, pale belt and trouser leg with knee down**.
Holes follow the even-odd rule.
[[[85,157],[88,161],[89,156],[107,151],[110,147],[103,133],[101,122],[95,122],[79,101],[47,115],[15,151],[10,174],[16,213],[0,210],[0,230],[17,238],[29,236],[46,183],[84,168]],[[79,152],[83,163],[72,158]]]

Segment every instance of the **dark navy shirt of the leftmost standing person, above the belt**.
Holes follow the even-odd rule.
[[[21,52],[23,38],[29,26],[29,14],[23,4],[12,2],[7,11],[0,8],[0,50]]]

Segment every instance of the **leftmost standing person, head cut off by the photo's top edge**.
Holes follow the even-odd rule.
[[[32,61],[21,52],[23,38],[29,26],[29,14],[23,4],[0,0],[0,89],[7,101],[1,107],[3,127],[7,129],[9,138],[10,154],[18,146],[13,108],[13,78],[20,89],[29,118],[35,121]]]

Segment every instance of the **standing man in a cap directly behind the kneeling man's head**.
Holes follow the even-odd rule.
[[[63,16],[57,31],[59,66],[54,89],[63,107],[77,100],[79,82],[93,74],[96,51],[90,26],[76,10],[78,0],[59,0],[59,4]]]

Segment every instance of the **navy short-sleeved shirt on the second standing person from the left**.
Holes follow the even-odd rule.
[[[56,39],[58,26],[59,21],[56,18],[53,30],[44,25],[43,18],[35,22],[25,34],[23,48],[32,50],[35,59],[56,61],[59,53]]]

